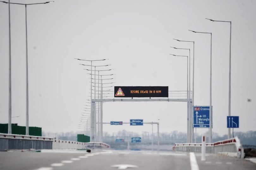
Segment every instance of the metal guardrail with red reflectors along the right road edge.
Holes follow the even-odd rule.
[[[181,152],[201,152],[201,143],[174,144],[174,151]],[[236,153],[238,158],[244,158],[244,150],[239,138],[218,141],[215,143],[206,143],[206,153]]]

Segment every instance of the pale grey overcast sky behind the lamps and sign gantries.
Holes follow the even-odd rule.
[[[40,3],[39,0],[11,0]],[[55,0],[27,6],[29,126],[43,131],[79,130],[79,117],[90,94],[89,73],[75,60],[109,59],[95,65],[111,66],[102,74],[116,86],[169,86],[186,90],[186,58],[195,41],[195,105],[209,105],[210,35],[212,32],[213,132],[227,133],[229,83],[229,23],[231,40],[231,115],[240,128],[256,130],[256,1],[254,0]],[[0,3],[0,123],[8,123],[8,4]],[[25,126],[26,46],[25,6],[11,5],[12,123]],[[192,53],[192,51],[191,51]],[[192,61],[192,57],[191,57]],[[192,63],[191,63],[192,66]],[[192,70],[191,70],[192,76]],[[107,78],[107,77],[106,77]],[[105,80],[104,82],[113,82]],[[191,86],[192,89],[192,86]],[[251,102],[248,102],[251,99]],[[108,102],[103,122],[143,119],[160,122],[160,132],[186,132],[186,102]],[[104,125],[141,133],[150,125]],[[204,133],[208,129],[199,129]],[[154,128],[156,131],[156,127]]]

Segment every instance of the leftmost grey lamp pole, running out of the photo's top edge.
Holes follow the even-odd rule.
[[[11,83],[11,18],[10,18],[10,0],[9,9],[9,113],[8,113],[8,133],[12,133],[12,83]]]

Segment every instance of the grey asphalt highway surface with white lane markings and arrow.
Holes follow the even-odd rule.
[[[1,170],[256,170],[244,159],[199,153],[128,150],[41,150],[0,152]]]

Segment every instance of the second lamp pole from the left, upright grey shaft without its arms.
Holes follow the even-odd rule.
[[[25,4],[26,11],[26,135],[29,135],[28,126],[28,58],[27,58],[27,4]]]

